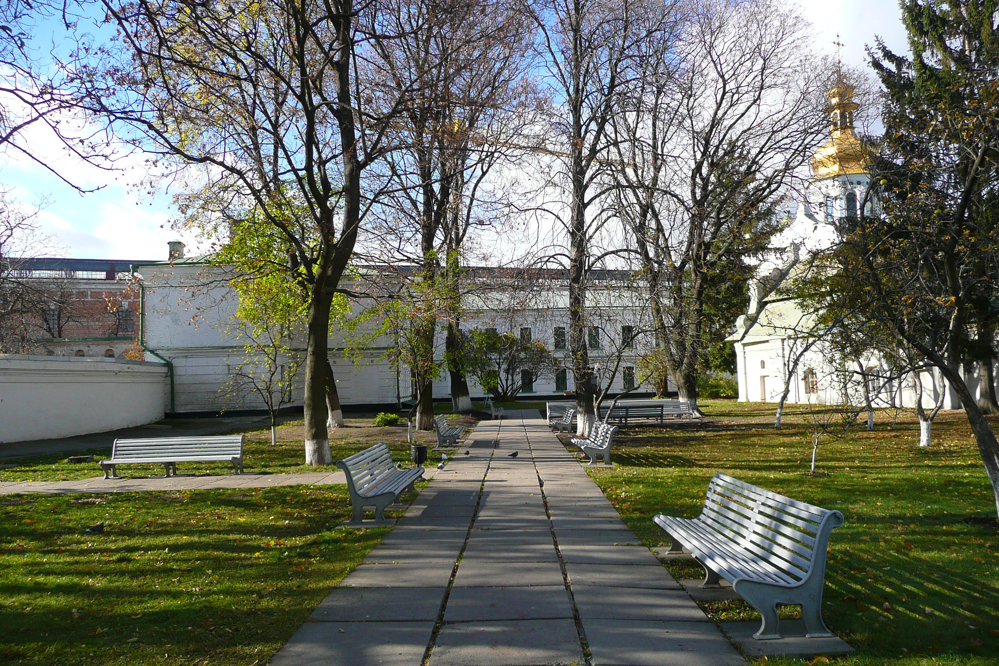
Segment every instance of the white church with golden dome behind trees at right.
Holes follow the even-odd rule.
[[[854,93],[842,78],[828,91],[829,135],[812,155],[803,201],[797,202],[785,229],[774,236],[770,254],[750,281],[747,312],[727,338],[735,347],[740,401],[777,402],[785,392],[785,401],[791,403],[842,401],[846,390],[842,366],[817,334],[819,318],[776,292],[786,280],[810,270],[808,260],[816,252],[837,243],[844,219],[858,217],[861,207],[865,215],[876,210],[876,202],[864,199],[870,177],[864,146],[854,128],[859,108]],[[894,378],[878,353],[847,362],[855,364],[854,378],[866,376],[876,406],[915,404],[912,381]],[[929,407],[940,395],[942,383],[936,379],[929,375],[923,379],[923,402]],[[959,406],[953,395],[944,397],[948,408]]]

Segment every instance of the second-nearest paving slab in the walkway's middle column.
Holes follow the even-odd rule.
[[[453,587],[448,596],[444,621],[558,617],[572,617],[572,602],[560,581],[557,585],[535,587]]]

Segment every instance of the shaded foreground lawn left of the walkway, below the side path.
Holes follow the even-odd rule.
[[[388,530],[349,516],[344,485],[0,496],[0,663],[266,664]]]

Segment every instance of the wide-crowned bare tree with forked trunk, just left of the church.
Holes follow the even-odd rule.
[[[732,301],[712,301],[712,281],[751,270],[823,124],[800,15],[775,0],[686,8],[678,43],[649,53],[613,129],[619,215],[679,396],[696,407],[707,332]]]

